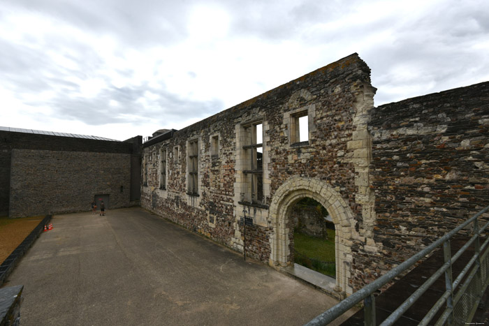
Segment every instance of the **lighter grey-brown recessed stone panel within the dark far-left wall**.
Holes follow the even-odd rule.
[[[129,206],[131,156],[13,149],[10,217],[89,211],[96,194]]]

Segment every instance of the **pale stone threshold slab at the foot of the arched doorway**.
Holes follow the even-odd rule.
[[[335,291],[336,280],[331,276],[326,276],[319,272],[313,271],[299,264],[293,264],[286,267],[279,267],[279,272],[293,277],[302,283],[312,286],[321,292],[326,293],[330,297],[342,300],[342,293]]]

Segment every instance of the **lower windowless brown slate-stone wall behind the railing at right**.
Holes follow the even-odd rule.
[[[371,110],[377,253],[358,251],[355,283],[377,278],[489,205],[489,82]]]

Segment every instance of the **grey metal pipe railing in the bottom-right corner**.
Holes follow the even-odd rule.
[[[425,281],[423,285],[413,292],[413,294],[398,306],[397,309],[395,309],[395,311],[393,311],[393,313],[391,313],[391,315],[380,325],[393,325],[395,321],[399,319],[402,314],[405,313],[433,283],[435,283],[435,281],[437,281],[439,276],[443,274],[445,276],[446,290],[435,305],[432,306],[430,311],[428,311],[423,320],[421,320],[419,325],[428,325],[432,318],[434,318],[443,307],[445,308],[441,312],[441,316],[436,321],[435,325],[465,325],[465,323],[470,322],[474,317],[477,305],[481,301],[483,292],[489,284],[489,249],[486,250],[489,245],[489,237],[486,237],[487,239],[482,245],[479,243],[479,239],[484,230],[489,230],[489,222],[483,225],[482,228],[479,228],[479,216],[488,212],[488,210],[489,206],[482,209],[481,212],[475,214],[464,223],[458,225],[457,228],[451,230],[451,232],[448,232],[436,242],[430,244],[430,246],[411,256],[411,258],[402,262],[402,264],[397,267],[391,269],[391,271],[379,277],[379,279],[353,293],[353,295],[347,297],[328,311],[321,313],[321,315],[309,321],[306,325],[328,325],[353,306],[359,304],[362,300],[364,301],[363,309],[365,313],[365,325],[377,325],[377,320],[375,318],[374,292],[392,281],[396,276],[402,274],[402,272],[414,266],[416,262],[435,251],[439,246],[443,246],[444,265],[441,265],[441,267],[439,267],[439,269],[437,269],[437,271]],[[450,239],[470,223],[474,223],[472,237],[470,237],[467,243],[452,256]],[[469,260],[466,267],[462,269],[462,272],[460,272],[457,279],[453,281],[451,271],[452,264],[460,258],[471,245],[474,248],[474,255]]]

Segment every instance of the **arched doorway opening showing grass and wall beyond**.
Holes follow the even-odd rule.
[[[316,200],[302,198],[290,212],[293,223],[293,261],[335,277],[335,224],[328,211]]]

